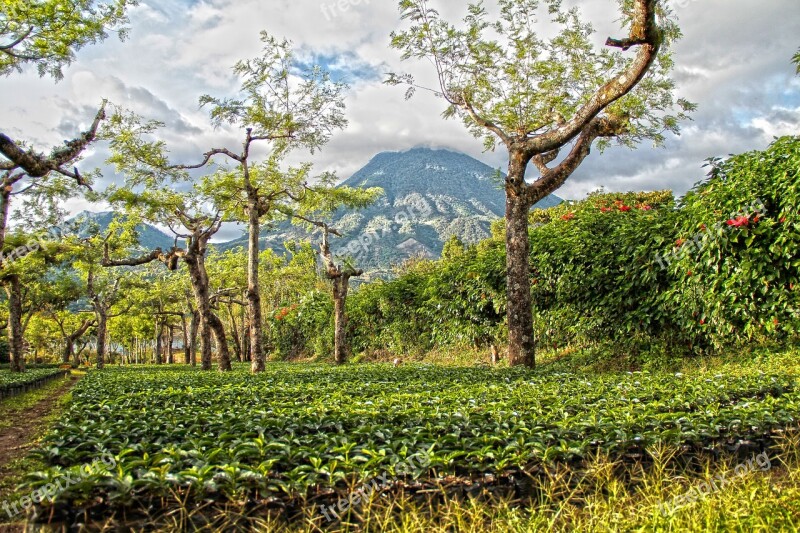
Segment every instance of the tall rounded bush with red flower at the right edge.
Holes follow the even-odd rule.
[[[667,294],[700,348],[800,327],[800,137],[709,160],[708,179],[681,202],[680,248]]]

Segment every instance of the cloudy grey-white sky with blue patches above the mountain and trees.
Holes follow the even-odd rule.
[[[800,133],[800,77],[791,64],[800,48],[798,0],[669,0],[683,39],[675,46],[677,96],[698,104],[693,120],[666,146],[593,152],[556,192],[580,199],[600,187],[609,191],[671,189],[676,195],[704,177],[709,157],[763,149],[775,136]],[[261,49],[260,32],[286,37],[306,62],[321,64],[350,85],[346,130],[314,155],[296,153],[322,171],[345,179],[384,151],[414,147],[464,152],[505,169],[503,150],[485,152],[458,120],[444,120],[444,103],[418,93],[410,101],[402,87],[383,83],[387,72],[409,72],[432,85],[425,62],[401,62],[389,46],[401,30],[397,0],[141,0],[130,12],[130,36],[112,35],[80,51],[64,80],[39,78],[33,69],[0,78],[0,131],[27,140],[40,151],[74,137],[107,98],[166,124],[165,140],[175,162],[199,162],[212,147],[241,146],[237,132],[215,130],[203,94],[231,96],[239,85],[232,72],[240,59]],[[487,5],[494,4],[486,0]],[[569,3],[569,1],[567,1]],[[601,45],[621,36],[614,0],[578,2],[597,29]],[[465,3],[432,0],[450,20]],[[547,22],[543,22],[547,31]],[[633,52],[629,52],[633,53]],[[101,166],[105,149],[87,152],[84,170]],[[106,170],[104,184],[119,180]],[[102,210],[82,200],[70,209]],[[237,235],[226,228],[221,240]]]

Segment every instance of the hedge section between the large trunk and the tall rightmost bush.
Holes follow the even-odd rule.
[[[609,339],[630,349],[674,327],[657,258],[674,241],[670,191],[595,193],[531,215],[534,317],[541,345]]]

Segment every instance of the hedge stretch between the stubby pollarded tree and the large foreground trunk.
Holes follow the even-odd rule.
[[[359,288],[350,306],[356,351],[408,354],[496,342],[505,315],[502,243],[450,243],[447,250],[439,261],[409,263],[397,279]]]

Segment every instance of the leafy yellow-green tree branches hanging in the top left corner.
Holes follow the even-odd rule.
[[[2,0],[0,75],[35,65],[40,76],[56,80],[75,53],[114,31],[124,39],[125,10],[136,0]]]

